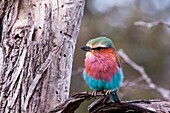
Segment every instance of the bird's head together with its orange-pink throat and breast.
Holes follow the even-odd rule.
[[[104,76],[111,77],[113,73],[116,73],[118,66],[112,40],[106,37],[91,39],[81,49],[87,52],[85,70],[88,75],[103,78]],[[110,80],[110,78],[106,78],[106,80]]]

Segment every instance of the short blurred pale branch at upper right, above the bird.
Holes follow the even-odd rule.
[[[139,27],[146,27],[148,29],[152,29],[153,27],[158,26],[158,25],[163,25],[163,26],[170,28],[170,23],[164,20],[159,20],[155,22],[136,21],[134,22],[134,25],[139,26]]]

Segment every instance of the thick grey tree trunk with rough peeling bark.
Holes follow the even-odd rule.
[[[68,98],[84,4],[0,1],[0,113],[44,113]]]

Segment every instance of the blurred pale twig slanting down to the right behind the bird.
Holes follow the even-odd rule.
[[[138,71],[141,74],[143,80],[148,84],[148,87],[154,89],[158,93],[162,95],[162,97],[168,101],[170,101],[170,90],[162,88],[154,84],[148,74],[145,72],[142,66],[139,66],[134,61],[132,61],[122,49],[118,50],[118,54],[123,58],[123,60],[130,65],[133,69]]]

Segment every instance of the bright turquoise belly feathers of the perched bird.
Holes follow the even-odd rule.
[[[87,73],[83,72],[83,78],[86,80],[89,87],[93,90],[117,90],[123,82],[123,71],[122,68],[113,76],[112,80],[107,82],[105,80],[98,80],[91,76],[88,76]]]

